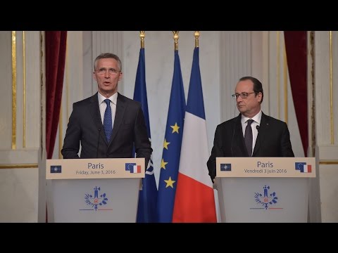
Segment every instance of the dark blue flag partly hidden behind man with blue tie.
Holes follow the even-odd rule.
[[[144,48],[139,50],[139,64],[137,65],[137,74],[134,88],[134,100],[141,103],[146,122],[146,131],[148,132],[149,141],[150,124],[148,112],[148,100],[146,98],[146,65],[144,57]],[[142,190],[139,191],[139,205],[137,209],[137,222],[156,222],[156,202],[157,187],[154,176],[153,156],[151,155],[149,164],[146,167],[146,175],[142,179]]]

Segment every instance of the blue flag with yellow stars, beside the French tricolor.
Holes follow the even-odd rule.
[[[173,83],[171,86],[168,117],[163,142],[161,173],[158,183],[158,222],[173,221],[177,174],[180,165],[183,136],[184,112],[185,96],[180,56],[178,55],[178,50],[175,50]]]

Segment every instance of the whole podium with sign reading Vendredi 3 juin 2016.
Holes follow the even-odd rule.
[[[314,157],[217,157],[222,222],[307,222]]]

